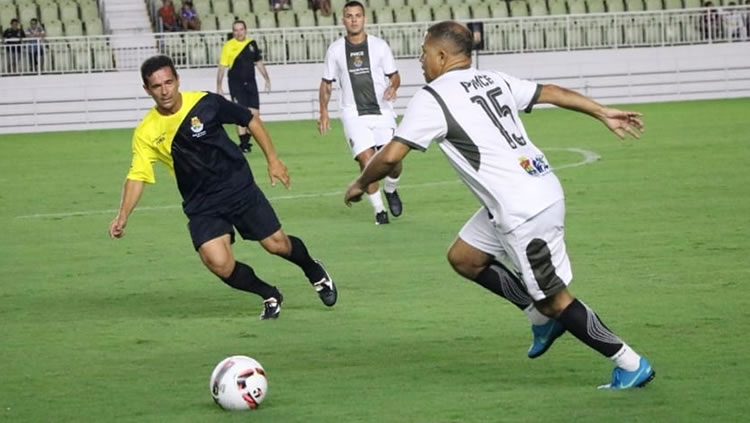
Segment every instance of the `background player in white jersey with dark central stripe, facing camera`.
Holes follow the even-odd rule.
[[[359,168],[364,169],[377,150],[391,141],[396,129],[393,100],[401,84],[401,77],[388,44],[365,32],[365,8],[358,1],[344,5],[343,23],[346,36],[334,41],[326,53],[323,80],[320,82],[320,120],[318,131],[325,134],[331,129],[328,101],[332,85],[338,82],[339,114],[344,134],[349,142]],[[385,178],[383,190],[388,207],[394,217],[403,210],[396,190],[401,165]],[[375,224],[388,223],[377,182],[367,187],[367,196],[375,211]]]

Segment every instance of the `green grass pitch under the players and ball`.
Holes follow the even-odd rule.
[[[657,372],[602,392],[611,363],[566,335],[529,360],[525,317],[455,275],[445,251],[478,203],[433,147],[404,164],[403,217],[349,209],[341,126],[268,123],[292,189],[270,187],[284,229],[336,280],[326,309],[301,272],[249,242],[239,260],[285,294],[278,321],[193,252],[160,165],[127,235],[107,237],[130,130],[0,137],[1,422],[736,422],[750,406],[750,99],[628,106],[640,140],[582,115],[525,116],[567,196],[571,290]],[[601,158],[584,159],[572,148]],[[257,411],[220,410],[214,365],[258,359]]]

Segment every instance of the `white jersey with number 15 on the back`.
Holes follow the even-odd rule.
[[[409,102],[394,139],[426,150],[435,141],[501,230],[563,199],[547,158],[518,115],[541,85],[501,72],[449,71]]]

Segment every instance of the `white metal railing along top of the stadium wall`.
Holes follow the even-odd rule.
[[[480,54],[582,49],[661,47],[748,41],[750,6],[585,15],[486,19]],[[430,22],[379,24],[368,32],[384,38],[396,58],[421,54]],[[154,52],[167,54],[180,68],[214,67],[227,31],[153,34],[145,45],[127,46],[120,35],[47,38],[0,48],[0,75],[54,74],[135,70]],[[266,64],[319,63],[343,27],[254,29],[250,36]],[[150,35],[149,35],[150,36]],[[10,41],[10,42],[9,42]],[[125,46],[123,46],[125,45]],[[128,51],[124,51],[127,49]]]

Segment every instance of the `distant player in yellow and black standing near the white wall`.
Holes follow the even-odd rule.
[[[258,43],[247,36],[245,21],[237,20],[232,24],[232,38],[224,43],[221,49],[219,69],[216,72],[216,93],[224,95],[224,73],[229,69],[229,94],[232,100],[259,116],[260,99],[258,98],[258,85],[255,82],[256,66],[263,79],[266,80],[266,92],[270,92],[271,78],[263,64],[263,55]],[[240,148],[243,152],[249,153],[252,147],[250,134],[239,126],[237,134],[240,136]]]

